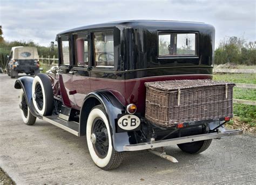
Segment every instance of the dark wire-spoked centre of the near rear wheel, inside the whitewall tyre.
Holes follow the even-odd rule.
[[[95,135],[94,141],[93,138],[91,138],[92,142],[94,142],[93,148],[96,154],[103,159],[109,150],[109,136],[104,121],[99,117],[93,121],[92,134]]]

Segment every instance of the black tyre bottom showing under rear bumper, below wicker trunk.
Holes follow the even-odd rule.
[[[203,140],[203,141],[196,141],[196,142],[187,142],[178,144],[178,147],[183,150],[183,152],[190,153],[190,154],[199,154],[204,152],[210,145],[212,139]]]

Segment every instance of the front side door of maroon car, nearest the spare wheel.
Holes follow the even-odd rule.
[[[73,96],[72,72],[71,69],[71,45],[70,36],[60,36],[59,40],[59,84],[62,94],[63,104],[68,107],[75,107],[75,98]]]

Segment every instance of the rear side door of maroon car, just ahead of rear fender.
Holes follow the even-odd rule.
[[[78,109],[83,104],[84,98],[91,91],[90,86],[90,49],[89,36],[87,32],[74,33],[72,36],[73,44],[73,63],[72,83],[73,95]]]

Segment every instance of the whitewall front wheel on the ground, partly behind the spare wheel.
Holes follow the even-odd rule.
[[[35,124],[36,117],[34,117],[29,110],[23,90],[21,90],[21,94],[19,94],[19,108],[21,108],[22,120],[24,123],[26,125]]]

